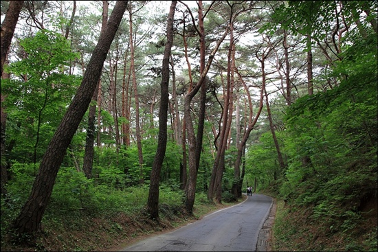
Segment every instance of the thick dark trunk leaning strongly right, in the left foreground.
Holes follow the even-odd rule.
[[[126,10],[127,3],[128,1],[117,1],[115,3],[107,28],[105,32],[100,35],[98,44],[93,50],[81,85],[76,91],[76,95],[69,105],[67,113],[63,116],[54,137],[52,137],[47,147],[30,196],[22,207],[19,216],[14,220],[14,229],[20,234],[32,234],[41,230],[41,220],[52,194],[56,174],[58,174],[60,164],[65,157],[67,147],[72,137],[74,137],[82,117],[85,115],[89,103],[91,102],[98,80],[100,80],[102,66],[107,58],[108,51],[115,33],[118,30],[124,11]]]

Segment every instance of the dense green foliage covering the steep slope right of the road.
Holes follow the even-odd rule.
[[[365,46],[362,46],[365,45]],[[377,38],[349,46],[333,71],[340,85],[299,99],[287,111],[289,167],[280,193],[313,206],[311,218],[331,232],[358,222],[377,190]]]

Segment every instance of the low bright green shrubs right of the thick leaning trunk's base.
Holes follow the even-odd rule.
[[[109,181],[98,184],[97,180],[87,179],[74,168],[61,168],[49,203],[49,211],[59,211],[60,214],[67,211],[88,211],[91,214],[142,211],[148,198],[148,186],[120,188],[112,180],[115,176],[111,175],[112,172],[118,174],[109,170]],[[173,187],[173,184],[162,185],[160,204],[181,205],[183,192],[173,190]]]

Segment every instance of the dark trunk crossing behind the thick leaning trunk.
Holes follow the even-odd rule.
[[[102,1],[102,25],[101,33],[104,32],[105,27],[107,26],[108,21],[108,1]],[[102,69],[101,69],[102,72]],[[100,89],[101,80],[98,81],[97,87],[93,93],[91,104],[89,106],[88,112],[88,128],[87,128],[87,137],[85,138],[85,153],[84,160],[82,164],[82,171],[84,172],[87,179],[92,177],[92,168],[93,168],[93,157],[94,157],[94,137],[96,132],[95,122],[96,122],[96,103],[98,100],[98,90]],[[100,128],[98,128],[100,131]]]

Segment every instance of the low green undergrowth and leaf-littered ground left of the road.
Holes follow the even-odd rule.
[[[11,200],[1,198],[1,251],[114,251],[149,234],[172,230],[215,209],[238,203],[209,203],[206,195],[199,192],[194,211],[188,214],[182,204],[182,190],[175,183],[164,184],[159,197],[160,219],[151,220],[144,211],[147,186],[115,190],[87,180],[74,168],[66,168],[58,174],[41,233],[17,238],[10,225],[27,197],[30,183],[32,179],[24,177],[8,187]]]

